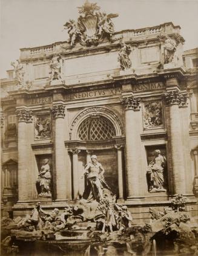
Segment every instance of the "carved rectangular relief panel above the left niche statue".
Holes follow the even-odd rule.
[[[51,119],[49,115],[35,117],[35,139],[51,137]]]

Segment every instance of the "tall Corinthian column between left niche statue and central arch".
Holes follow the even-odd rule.
[[[56,175],[56,200],[65,201],[67,194],[67,172],[65,171],[64,117],[65,106],[62,104],[51,107],[55,119],[54,152]]]

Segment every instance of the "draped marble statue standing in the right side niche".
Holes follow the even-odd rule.
[[[148,192],[165,192],[163,170],[166,165],[166,157],[162,156],[160,150],[154,151],[154,159],[148,164],[147,181]]]

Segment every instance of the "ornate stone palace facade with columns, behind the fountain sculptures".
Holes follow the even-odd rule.
[[[134,223],[178,193],[197,215],[198,49],[172,22],[114,32],[117,15],[85,7],[69,41],[21,49],[1,80],[2,215],[79,200],[92,154]]]

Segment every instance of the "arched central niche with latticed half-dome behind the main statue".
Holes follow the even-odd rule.
[[[73,147],[74,141],[74,147],[81,148],[78,153],[78,164],[76,164],[79,177],[90,160],[91,154],[96,154],[97,160],[105,169],[105,180],[116,195],[118,195],[118,164],[114,144],[116,144],[116,137],[122,137],[123,133],[122,117],[109,107],[85,108],[78,112],[70,125],[71,144],[68,143],[68,145]],[[83,187],[83,182],[80,182],[80,194],[84,191]]]

